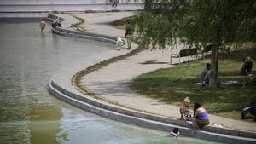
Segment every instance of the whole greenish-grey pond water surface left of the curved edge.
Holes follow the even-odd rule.
[[[38,23],[0,23],[0,143],[215,143],[124,124],[84,112],[49,95],[55,73],[113,45],[61,37]]]

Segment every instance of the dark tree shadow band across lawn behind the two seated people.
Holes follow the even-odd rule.
[[[144,83],[146,82],[146,83]],[[197,85],[198,78],[141,78],[133,89],[152,98],[171,104],[181,103],[189,96],[191,103],[201,101],[208,112],[240,111],[248,102],[256,99],[253,87],[210,88]]]

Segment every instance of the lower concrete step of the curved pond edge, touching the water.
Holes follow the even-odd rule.
[[[52,79],[48,85],[49,94],[55,95],[56,98],[60,99],[61,101],[65,101],[73,105],[74,107],[79,107],[87,112],[92,112],[99,116],[110,118],[116,121],[120,121],[128,124],[135,124],[145,128],[161,130],[166,132],[172,131],[174,127],[177,127],[179,128],[182,135],[202,138],[208,141],[227,142],[227,143],[234,143],[234,144],[235,143],[253,144],[256,142],[256,139],[252,139],[252,138],[216,134],[216,133],[201,131],[201,130],[193,130],[187,127],[177,126],[174,124],[163,123],[160,121],[155,121],[147,118],[139,118],[136,115],[131,116],[131,115],[123,114],[121,112],[113,112],[112,110],[108,110],[113,107],[106,106],[106,105],[104,107],[103,106],[96,107],[90,104],[90,102],[96,102],[96,101],[90,101],[89,99],[86,99],[84,96],[75,95],[73,93],[68,92],[67,90],[63,92],[59,89],[65,90],[65,89],[62,89],[61,86],[55,84],[54,80]],[[97,103],[97,104],[102,105],[101,103]]]

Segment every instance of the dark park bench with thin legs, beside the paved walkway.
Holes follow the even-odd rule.
[[[178,58],[178,64],[180,64],[180,58],[181,57],[190,57],[193,56],[194,58],[197,56],[197,49],[181,49],[178,54],[172,54],[171,55],[171,65],[172,65],[172,58]],[[189,58],[188,58],[189,60]]]

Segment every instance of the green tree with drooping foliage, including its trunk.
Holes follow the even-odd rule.
[[[145,0],[137,15],[136,37],[150,49],[182,42],[189,48],[212,45],[210,86],[216,86],[219,49],[255,43],[255,0]]]

